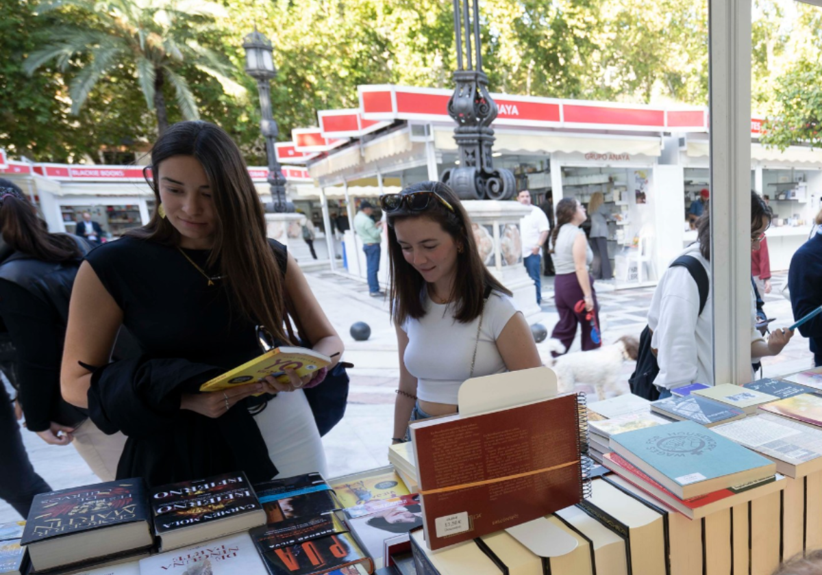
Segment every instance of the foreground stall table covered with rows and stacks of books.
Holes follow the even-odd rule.
[[[460,403],[414,422],[390,466],[327,481],[41,494],[0,526],[0,573],[770,575],[822,548],[822,370],[679,393]]]

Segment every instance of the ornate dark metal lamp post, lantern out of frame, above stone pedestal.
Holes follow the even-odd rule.
[[[456,88],[448,102],[448,114],[457,122],[454,139],[459,147],[459,167],[442,173],[442,182],[463,200],[507,200],[515,194],[516,181],[510,170],[493,167],[492,146],[496,138],[491,122],[496,118],[497,108],[488,94],[488,76],[483,72],[478,0],[463,0],[461,12],[460,0],[454,0],[458,69],[454,72]],[[464,59],[468,62],[466,67]]]

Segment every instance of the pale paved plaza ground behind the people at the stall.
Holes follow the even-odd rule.
[[[774,293],[778,293],[786,277],[787,274],[774,276]],[[386,465],[387,449],[393,433],[398,376],[395,333],[389,320],[388,304],[369,297],[366,284],[354,278],[328,271],[308,272],[307,278],[322,308],[344,338],[346,359],[356,365],[350,370],[349,407],[344,420],[323,438],[330,475]],[[645,325],[653,288],[619,292],[610,288],[597,284],[604,343],[612,343],[624,334],[639,337]],[[541,322],[550,331],[558,319],[552,306],[551,278],[543,278],[543,301]],[[765,311],[769,317],[777,318],[774,322],[776,326],[791,323],[790,302],[781,296],[765,296]],[[365,321],[370,325],[372,335],[367,342],[354,342],[351,338],[349,328],[356,321]],[[549,361],[550,354],[544,343],[538,347],[543,360]],[[579,349],[578,342],[571,351],[575,349]],[[780,356],[766,358],[764,376],[783,375],[809,366],[812,366],[812,358],[807,340],[797,333]],[[633,369],[633,362],[622,366],[620,380],[624,393],[628,392],[627,380]],[[578,384],[577,390],[593,393],[593,388],[587,384]],[[98,481],[71,445],[51,446],[26,430],[23,437],[37,472],[53,489]],[[17,518],[15,511],[0,501],[0,523],[16,521]]]

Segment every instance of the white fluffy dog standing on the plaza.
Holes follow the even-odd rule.
[[[566,347],[558,339],[549,339],[547,344],[552,352],[566,351]],[[575,384],[579,382],[593,384],[599,399],[605,399],[607,392],[621,393],[621,389],[616,389],[615,385],[621,372],[622,361],[636,360],[639,345],[636,338],[623,335],[612,345],[590,352],[574,352],[556,357],[552,369],[556,373],[559,391],[573,391]]]

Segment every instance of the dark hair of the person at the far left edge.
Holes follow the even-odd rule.
[[[35,206],[13,182],[0,178],[0,230],[3,242],[38,260],[59,263],[80,259],[77,242],[65,233],[48,233]]]

